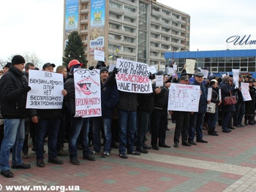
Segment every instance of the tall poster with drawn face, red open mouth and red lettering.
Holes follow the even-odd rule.
[[[99,69],[75,69],[75,117],[102,115]]]

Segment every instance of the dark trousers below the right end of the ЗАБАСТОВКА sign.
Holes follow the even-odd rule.
[[[138,111],[137,125],[138,125],[138,135],[136,140],[136,145],[138,148],[143,148],[143,140],[146,136],[148,128],[150,127],[151,114],[149,112]]]

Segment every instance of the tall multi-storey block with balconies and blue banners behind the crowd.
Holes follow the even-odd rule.
[[[89,65],[97,64],[94,49],[105,51],[107,65],[123,58],[158,69],[165,66],[168,50],[189,50],[190,16],[157,1],[65,0],[65,5],[64,41],[77,30]],[[68,28],[70,18],[71,24],[77,22],[75,28]]]

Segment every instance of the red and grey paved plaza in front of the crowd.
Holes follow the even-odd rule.
[[[217,126],[218,137],[203,130],[208,144],[175,148],[175,124],[170,122],[166,144],[171,148],[151,149],[148,154],[129,155],[127,159],[118,157],[118,149],[113,149],[108,158],[100,153],[94,155],[96,161],[87,161],[79,150],[79,166],[70,164],[69,157],[60,157],[64,164],[56,165],[47,163],[45,153],[45,167],[39,168],[35,153],[29,150],[30,158],[24,161],[31,169],[11,169],[15,177],[10,179],[1,176],[1,191],[7,191],[6,185],[78,185],[80,191],[91,192],[256,191],[256,125],[236,128],[230,134]],[[146,144],[150,145],[151,135],[147,137]]]

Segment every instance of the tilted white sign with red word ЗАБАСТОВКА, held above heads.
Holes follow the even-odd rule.
[[[151,81],[148,79],[148,65],[137,61],[118,58],[116,83],[119,91],[131,93],[152,93]]]

